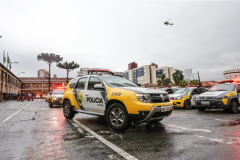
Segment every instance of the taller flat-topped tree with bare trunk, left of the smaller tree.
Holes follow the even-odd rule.
[[[41,53],[38,54],[37,56],[37,60],[38,61],[44,61],[47,62],[48,66],[49,66],[49,70],[48,70],[48,92],[50,92],[50,84],[51,84],[51,65],[52,63],[58,63],[60,61],[62,61],[62,57],[60,57],[60,55],[55,55],[54,53]]]

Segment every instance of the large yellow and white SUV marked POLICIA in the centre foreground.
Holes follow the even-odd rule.
[[[65,90],[63,114],[104,116],[114,130],[125,130],[133,122],[158,122],[171,115],[173,106],[166,92],[141,88],[125,78],[90,74],[71,80]]]

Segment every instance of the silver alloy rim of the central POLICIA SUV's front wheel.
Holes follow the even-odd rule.
[[[112,125],[122,126],[125,121],[125,115],[120,108],[113,108],[110,112],[109,119]]]

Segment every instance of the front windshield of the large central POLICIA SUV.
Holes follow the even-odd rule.
[[[110,87],[137,87],[136,84],[132,83],[131,81],[125,78],[113,76],[102,76],[101,78]]]

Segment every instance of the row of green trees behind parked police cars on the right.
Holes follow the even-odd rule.
[[[175,69],[175,72],[173,73],[173,80],[175,83],[173,83],[171,81],[170,78],[166,78],[166,74],[162,73],[160,75],[158,75],[159,80],[157,81],[157,85],[158,87],[161,86],[168,86],[168,85],[174,85],[174,86],[181,86],[181,87],[185,87],[187,85],[199,85],[202,86],[202,82],[200,82],[200,79],[193,79],[188,81],[184,80],[184,75],[183,75],[183,71],[179,70],[179,69]]]

